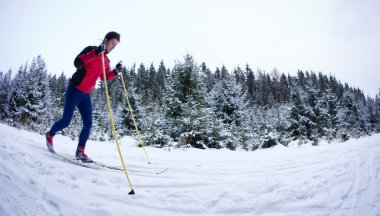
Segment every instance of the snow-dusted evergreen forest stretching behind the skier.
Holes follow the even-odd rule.
[[[74,71],[73,71],[74,72]],[[0,120],[40,134],[61,118],[70,77],[48,73],[41,56],[15,74],[0,71]],[[250,65],[212,71],[191,55],[167,68],[163,61],[123,69],[134,117],[144,145],[244,149],[274,145],[318,145],[380,132],[380,97],[366,97],[332,75],[298,71],[291,76]],[[118,136],[137,137],[119,77],[107,81]],[[104,83],[91,93],[90,139],[111,140]],[[61,133],[78,139],[75,111]]]

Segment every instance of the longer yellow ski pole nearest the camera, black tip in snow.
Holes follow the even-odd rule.
[[[135,191],[133,190],[133,187],[132,187],[132,184],[131,184],[131,180],[129,179],[129,175],[128,175],[127,168],[125,167],[125,164],[124,164],[123,155],[121,154],[120,145],[119,145],[119,140],[117,139],[117,134],[116,134],[115,124],[114,124],[113,117],[112,117],[111,103],[110,103],[110,98],[109,98],[109,95],[108,95],[108,88],[107,88],[106,69],[105,69],[104,66],[105,66],[105,65],[104,65],[104,51],[103,51],[103,52],[102,52],[103,78],[104,78],[104,86],[105,86],[105,89],[106,89],[106,99],[107,99],[108,113],[109,113],[109,115],[110,115],[110,119],[111,119],[112,134],[113,134],[113,137],[114,137],[115,140],[116,140],[117,150],[119,151],[120,160],[121,160],[121,163],[122,163],[122,165],[123,165],[125,175],[127,176],[128,184],[129,184],[129,186],[131,187],[131,191],[130,191],[128,194],[129,194],[129,195],[133,195],[133,194],[135,194]]]

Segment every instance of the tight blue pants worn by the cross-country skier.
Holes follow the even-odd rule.
[[[86,146],[88,137],[90,136],[92,126],[92,104],[90,94],[85,94],[75,87],[69,86],[66,89],[65,107],[63,116],[60,120],[54,123],[50,129],[50,135],[54,136],[58,131],[70,125],[73,118],[75,107],[78,107],[83,121],[83,128],[79,135],[79,146]]]

